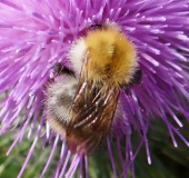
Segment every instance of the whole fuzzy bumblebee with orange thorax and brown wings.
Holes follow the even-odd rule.
[[[47,119],[72,152],[90,154],[109,134],[120,90],[135,81],[136,49],[118,26],[106,23],[78,39],[68,57],[74,76],[62,73],[67,78],[49,87]]]

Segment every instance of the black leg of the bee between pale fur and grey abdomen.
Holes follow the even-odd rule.
[[[54,63],[53,71],[56,76],[63,75],[63,73],[69,76],[74,76],[74,72],[71,69],[67,68],[60,62]]]

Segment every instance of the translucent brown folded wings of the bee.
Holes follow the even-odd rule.
[[[118,97],[118,89],[103,91],[81,78],[67,128],[67,145],[71,152],[90,154],[106,140]]]

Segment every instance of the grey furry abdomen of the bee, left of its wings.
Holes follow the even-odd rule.
[[[69,110],[77,91],[78,80],[73,76],[62,75],[48,88],[47,118],[52,130],[66,137],[70,120]]]

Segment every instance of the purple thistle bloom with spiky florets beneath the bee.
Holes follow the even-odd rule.
[[[132,168],[132,161],[142,144],[148,162],[151,164],[147,132],[150,118],[160,117],[168,127],[173,146],[175,136],[189,142],[178,131],[168,115],[182,127],[173,111],[189,120],[189,0],[1,0],[0,1],[0,92],[8,91],[1,103],[0,134],[19,127],[19,134],[8,155],[23,135],[36,135],[21,177],[42,138],[52,145],[51,154],[41,174],[44,175],[58,145],[62,151],[53,177],[70,178],[80,165],[88,176],[88,157],[71,156],[59,136],[46,123],[43,100],[46,83],[52,77],[56,62],[67,62],[70,44],[81,31],[106,20],[117,22],[138,50],[142,83],[135,86],[130,95],[121,93],[122,116],[115,126],[123,176]],[[181,52],[179,52],[179,51]],[[21,115],[21,112],[24,112]],[[40,122],[39,122],[40,117]],[[43,129],[47,126],[47,129]],[[26,129],[29,127],[29,131]],[[34,128],[38,130],[34,131]],[[132,150],[131,134],[137,131],[141,142]],[[126,156],[121,154],[120,140],[126,139]],[[107,139],[113,176],[118,177],[111,141]],[[68,166],[72,157],[72,164]],[[84,161],[83,161],[84,160]],[[83,164],[84,162],[84,164]]]

